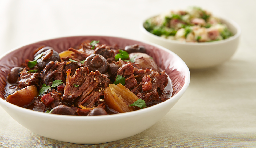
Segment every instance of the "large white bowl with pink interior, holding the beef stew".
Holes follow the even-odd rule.
[[[4,98],[6,77],[12,67],[19,66],[25,59],[33,59],[33,52],[39,46],[52,46],[57,52],[76,47],[82,41],[100,40],[101,44],[119,47],[139,44],[146,48],[173,80],[174,95],[165,102],[128,113],[102,116],[67,116],[32,111],[18,107]],[[175,53],[159,45],[108,36],[74,36],[50,39],[18,47],[0,58],[0,105],[19,124],[41,136],[51,139],[79,143],[96,144],[115,141],[138,134],[159,121],[181,98],[190,82],[190,73],[185,62]],[[154,133],[152,133],[154,134]],[[171,133],[170,133],[171,134]]]

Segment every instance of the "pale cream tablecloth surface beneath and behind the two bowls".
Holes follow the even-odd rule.
[[[256,147],[256,1],[15,1],[0,2],[0,54],[27,43],[75,35],[141,40],[139,25],[170,9],[200,6],[242,29],[237,52],[224,64],[191,70],[190,85],[155,125],[135,136],[78,145],[39,136],[0,108],[0,147]]]

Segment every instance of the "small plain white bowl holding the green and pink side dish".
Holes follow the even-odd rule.
[[[217,66],[229,60],[237,50],[241,29],[232,20],[220,18],[234,36],[225,40],[191,43],[165,39],[148,32],[141,24],[142,37],[146,41],[161,45],[176,53],[187,64],[189,69],[202,69]]]

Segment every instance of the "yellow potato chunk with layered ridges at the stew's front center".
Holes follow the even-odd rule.
[[[104,91],[107,106],[119,113],[135,111],[134,106],[129,107],[139,98],[122,84],[111,84]]]

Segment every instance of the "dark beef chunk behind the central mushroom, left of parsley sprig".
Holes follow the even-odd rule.
[[[94,53],[102,55],[109,63],[115,61],[115,52],[105,44],[97,47]]]

